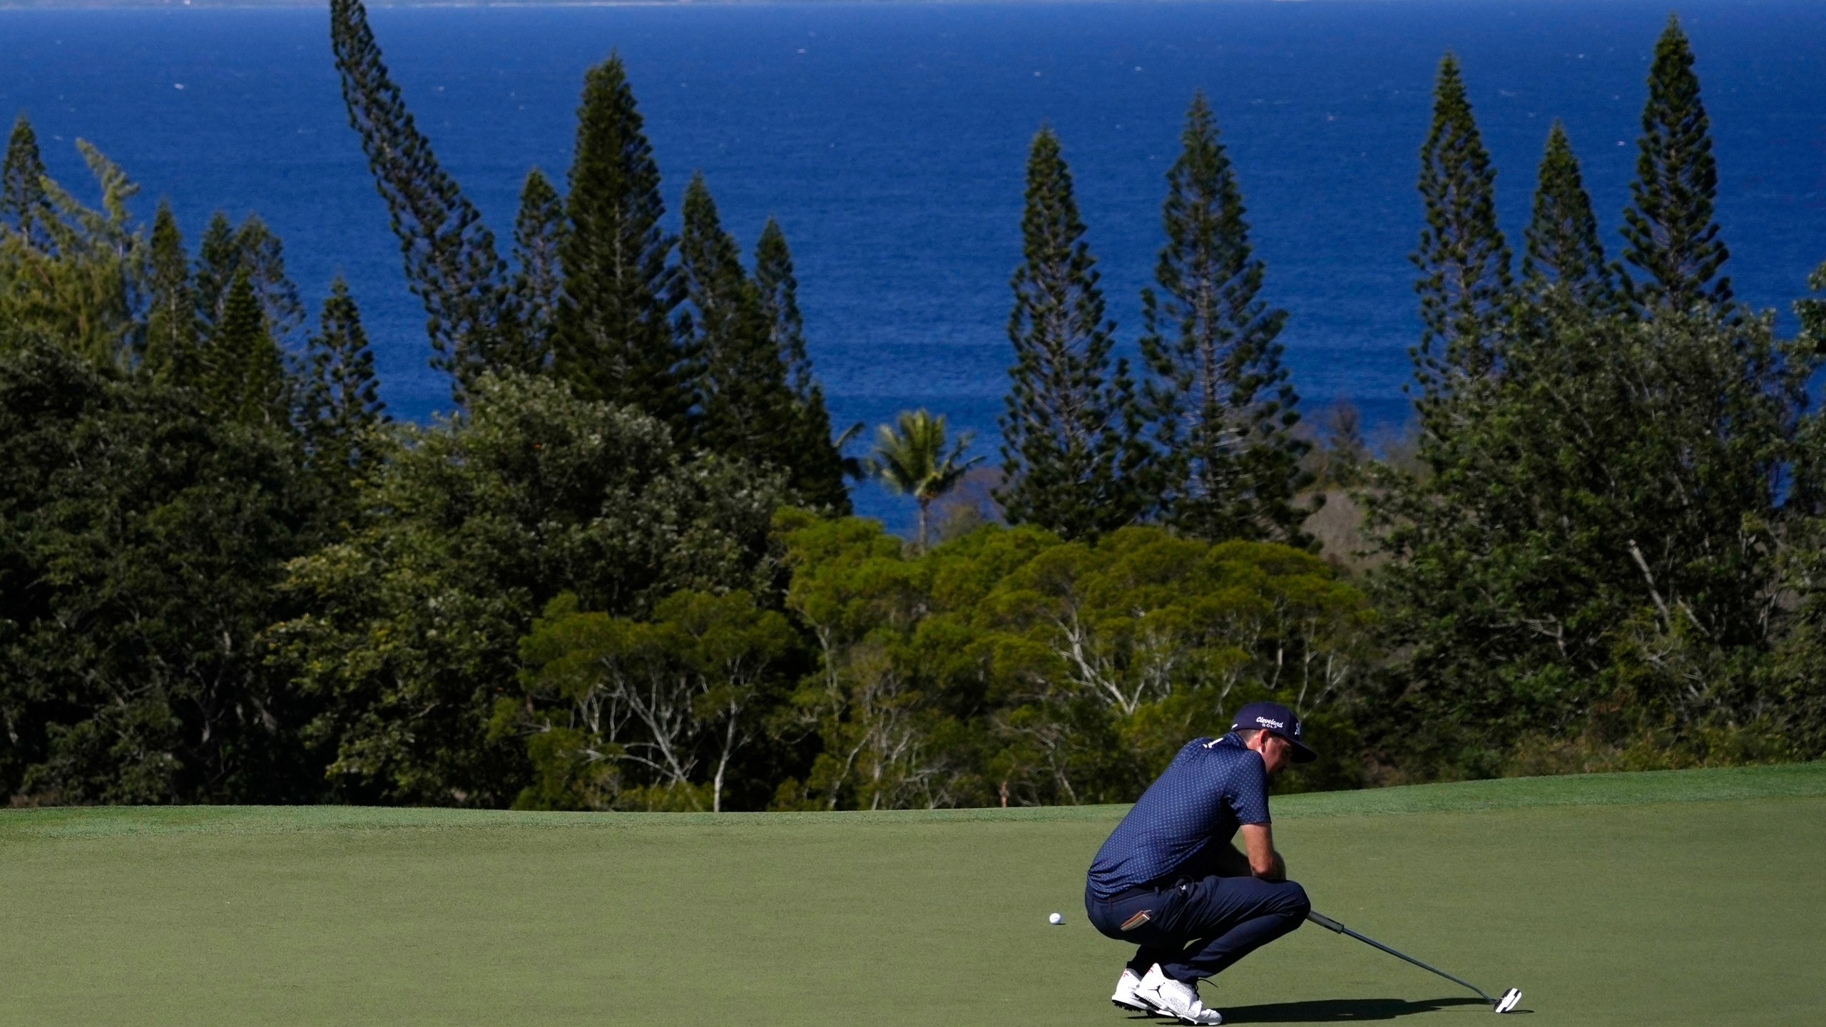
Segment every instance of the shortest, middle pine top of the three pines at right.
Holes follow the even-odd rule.
[[[1612,305],[1616,280],[1598,239],[1598,217],[1585,192],[1579,159],[1558,121],[1547,132],[1534,190],[1534,217],[1523,238],[1527,252],[1521,259],[1521,281],[1530,294],[1537,296],[1558,285],[1578,303],[1594,309]]]

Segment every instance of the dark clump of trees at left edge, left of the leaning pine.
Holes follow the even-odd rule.
[[[341,283],[318,333],[259,219],[192,258],[84,146],[20,119],[0,197],[0,775],[44,802],[310,800],[309,700],[267,663],[287,561],[360,515],[391,442]]]

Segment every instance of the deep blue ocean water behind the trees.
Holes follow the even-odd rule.
[[[1713,117],[1738,296],[1788,303],[1826,259],[1826,5],[1684,4]],[[619,51],[676,206],[701,170],[743,245],[767,216],[798,261],[838,424],[926,406],[993,453],[1023,159],[1055,126],[1125,342],[1161,241],[1185,104],[1218,113],[1291,311],[1307,409],[1406,418],[1421,208],[1415,152],[1439,55],[1464,62],[1519,239],[1552,119],[1585,161],[1607,243],[1627,203],[1665,0],[743,4],[376,7],[371,22],[438,157],[504,241],[533,164],[562,175],[584,68]],[[323,9],[0,11],[0,113],[29,111],[53,175],[77,137],[168,197],[194,241],[259,212],[320,298],[349,276],[400,417],[447,406],[424,314],[331,64]],[[506,245],[506,243],[504,243]],[[906,519],[873,490],[864,512]]]

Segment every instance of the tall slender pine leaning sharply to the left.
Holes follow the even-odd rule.
[[[533,364],[506,261],[405,110],[362,0],[331,0],[331,48],[349,124],[362,137],[405,256],[405,281],[425,305],[433,365],[455,376],[451,393],[460,402],[482,371]]]

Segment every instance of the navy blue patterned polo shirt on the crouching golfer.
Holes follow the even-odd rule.
[[[1090,894],[1216,873],[1242,824],[1267,824],[1267,768],[1236,733],[1192,738],[1141,793],[1090,863]]]

